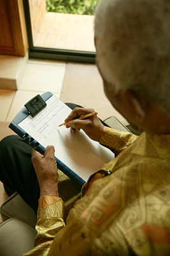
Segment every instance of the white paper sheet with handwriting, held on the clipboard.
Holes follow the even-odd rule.
[[[43,147],[53,145],[55,156],[87,181],[92,173],[114,158],[113,152],[90,140],[83,131],[73,134],[65,126],[58,127],[71,109],[57,97],[53,95],[46,104],[41,113],[34,118],[29,115],[18,125]]]

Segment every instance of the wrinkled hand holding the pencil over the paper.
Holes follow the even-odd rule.
[[[71,131],[74,133],[82,129],[90,139],[99,141],[103,132],[104,125],[101,123],[97,116],[92,116],[89,119],[78,120],[82,115],[88,115],[95,112],[92,108],[74,108],[70,115],[64,120],[68,122],[66,128],[71,127]]]

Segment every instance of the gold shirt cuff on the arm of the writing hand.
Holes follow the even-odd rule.
[[[122,132],[110,127],[104,126],[99,143],[119,154],[138,138],[131,132]]]

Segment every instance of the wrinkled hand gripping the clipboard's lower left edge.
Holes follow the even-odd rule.
[[[54,147],[48,146],[45,155],[41,155],[34,148],[32,150],[32,164],[39,182],[40,196],[59,196],[59,174],[54,156]]]

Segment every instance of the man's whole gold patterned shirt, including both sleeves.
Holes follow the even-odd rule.
[[[25,255],[170,255],[170,134],[104,127],[100,143],[118,156],[90,177],[66,226],[62,200],[40,198],[36,247]]]

